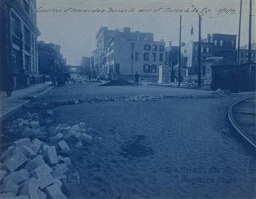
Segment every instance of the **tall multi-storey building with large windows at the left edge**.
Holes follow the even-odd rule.
[[[2,0],[0,4],[1,79],[11,75],[14,89],[28,87],[39,81],[36,0]]]

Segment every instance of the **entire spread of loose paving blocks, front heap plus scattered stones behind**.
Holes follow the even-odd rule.
[[[84,141],[92,139],[88,133],[99,133],[85,129],[82,122],[72,127],[59,124],[46,129],[40,126],[39,116],[29,112],[7,124],[7,132],[22,133],[23,137],[1,155],[0,198],[8,199],[67,198],[68,184],[77,184],[80,180],[79,173],[72,172],[72,151],[66,141],[72,138],[74,147],[80,149]]]

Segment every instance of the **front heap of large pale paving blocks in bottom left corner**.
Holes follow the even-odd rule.
[[[22,138],[1,155],[0,198],[66,198],[65,175],[71,166],[70,157],[58,155],[70,151],[65,141],[50,146],[38,138]],[[17,197],[18,198],[18,197]]]

